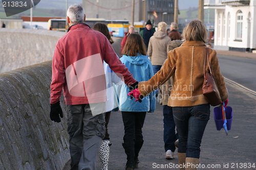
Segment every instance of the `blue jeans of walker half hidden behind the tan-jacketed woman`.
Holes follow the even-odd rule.
[[[163,141],[164,150],[175,151],[174,142],[178,139],[178,133],[175,134],[175,123],[173,116],[173,109],[170,106],[163,106]]]

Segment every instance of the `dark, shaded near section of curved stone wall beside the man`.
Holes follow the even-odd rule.
[[[49,117],[51,72],[48,61],[0,74],[0,169],[62,169],[70,159],[65,105],[61,123]]]

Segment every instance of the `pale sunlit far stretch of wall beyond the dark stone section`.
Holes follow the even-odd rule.
[[[52,60],[65,33],[49,30],[0,29],[0,72]]]

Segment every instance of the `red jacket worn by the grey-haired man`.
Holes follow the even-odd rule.
[[[67,105],[105,102],[103,60],[125,84],[136,82],[103,34],[82,23],[71,26],[55,47],[50,103],[59,101],[62,88]]]

